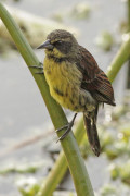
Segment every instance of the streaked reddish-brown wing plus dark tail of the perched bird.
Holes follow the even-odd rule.
[[[80,59],[77,64],[82,72],[83,79],[81,88],[91,93],[92,97],[98,101],[96,108],[91,118],[83,114],[84,125],[87,127],[88,139],[96,156],[100,155],[100,139],[96,130],[96,118],[100,103],[115,105],[114,90],[106,74],[99,68],[92,54],[83,47],[79,46]]]

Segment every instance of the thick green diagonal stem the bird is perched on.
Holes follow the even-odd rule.
[[[21,54],[23,56],[27,65],[36,65],[39,64],[37,57],[35,56],[31,47],[25,39],[24,35],[22,34],[20,27],[15,24],[14,20],[6,11],[6,9],[0,3],[0,17],[3,21],[4,25],[6,26],[10,35],[12,36],[17,49],[20,50]],[[30,69],[30,72],[40,89],[40,93],[46,101],[47,108],[49,110],[50,117],[55,128],[61,127],[62,125],[67,123],[66,117],[62,110],[62,108],[52,99],[49,93],[48,84],[46,83],[43,75],[35,74],[35,70]],[[63,132],[58,133],[61,136]],[[66,156],[66,160],[74,180],[74,184],[76,187],[76,192],[78,196],[93,196],[93,189],[91,186],[91,182],[83,162],[83,159],[80,155],[78,145],[76,139],[70,132],[66,139],[61,142],[63,147],[64,154]],[[51,184],[50,184],[51,189]],[[39,192],[38,196],[50,196],[52,195],[51,192],[48,192],[48,195],[42,192]]]

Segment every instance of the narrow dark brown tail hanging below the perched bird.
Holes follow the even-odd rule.
[[[83,114],[84,126],[87,130],[89,143],[95,156],[99,157],[101,147],[100,147],[100,139],[98,135],[98,128],[96,128],[96,117],[98,117],[98,108],[94,111],[94,114],[92,117],[88,117]]]

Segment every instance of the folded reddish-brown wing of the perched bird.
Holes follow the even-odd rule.
[[[80,47],[80,57],[77,65],[83,75],[81,88],[90,91],[99,102],[115,106],[114,90],[106,74],[98,66],[92,54],[83,47]]]

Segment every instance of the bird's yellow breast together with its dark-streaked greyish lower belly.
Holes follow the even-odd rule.
[[[91,95],[80,89],[82,75],[75,64],[56,64],[44,59],[44,75],[51,96],[64,108],[76,112],[92,111],[95,108],[93,100],[90,103]]]

